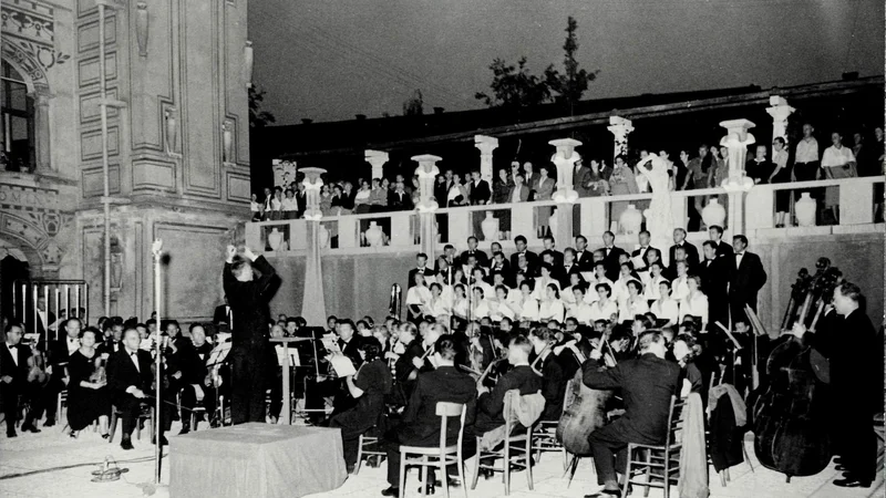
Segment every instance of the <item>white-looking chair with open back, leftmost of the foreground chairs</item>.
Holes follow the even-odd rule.
[[[440,419],[440,446],[439,447],[424,447],[424,446],[400,446],[400,498],[405,496],[406,489],[406,466],[413,465],[421,467],[422,471],[422,495],[427,485],[427,468],[437,467],[441,471],[441,483],[443,483],[443,490],[446,498],[450,496],[450,485],[446,478],[446,467],[455,465],[459,467],[459,478],[462,479],[462,489],[464,496],[467,498],[467,488],[465,488],[464,480],[464,458],[462,457],[462,439],[464,437],[464,418],[467,413],[467,406],[461,403],[445,403],[437,402],[436,415]],[[446,427],[449,426],[450,417],[460,417],[459,421],[459,442],[453,446],[446,445]],[[415,455],[415,458],[410,458],[410,455]],[[434,460],[430,460],[433,458]]]

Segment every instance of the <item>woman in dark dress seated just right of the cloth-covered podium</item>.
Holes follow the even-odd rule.
[[[393,387],[391,371],[381,357],[379,341],[367,338],[360,343],[358,351],[363,364],[356,374],[344,377],[348,391],[357,400],[357,405],[329,421],[330,427],[341,428],[344,464],[349,473],[357,463],[360,435],[375,426],[384,411],[384,397]]]

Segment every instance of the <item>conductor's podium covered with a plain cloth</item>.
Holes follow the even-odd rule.
[[[338,428],[259,423],[171,437],[169,467],[175,498],[300,497],[348,474]]]

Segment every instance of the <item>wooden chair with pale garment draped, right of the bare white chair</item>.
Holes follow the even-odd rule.
[[[501,471],[503,474],[503,481],[505,484],[505,496],[511,494],[511,467],[523,467],[526,469],[526,481],[529,485],[529,490],[533,490],[533,467],[532,467],[532,455],[533,455],[533,428],[527,427],[526,432],[523,434],[514,435],[512,434],[514,430],[514,426],[511,424],[512,418],[514,418],[511,413],[514,409],[513,400],[515,396],[519,396],[519,391],[512,390],[505,393],[505,406],[504,406],[504,414],[505,414],[505,440],[503,443],[501,450],[493,450],[493,449],[482,449],[481,440],[482,437],[477,436],[477,455],[476,459],[474,460],[474,479],[471,483],[471,489],[473,490],[477,486],[477,478],[480,477],[480,469],[492,470],[493,473]],[[523,443],[523,447],[517,446],[517,443]],[[512,455],[512,449],[522,452],[521,455]],[[495,467],[495,460],[497,458],[503,459],[502,468]],[[492,464],[483,464],[482,460],[491,459]]]

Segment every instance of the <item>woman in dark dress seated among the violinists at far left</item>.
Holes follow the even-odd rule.
[[[111,397],[107,392],[107,377],[104,365],[107,353],[95,351],[99,331],[89,328],[80,332],[80,349],[68,361],[68,426],[71,437],[87,427],[96,418],[102,437],[107,438],[107,415],[111,413]]]

